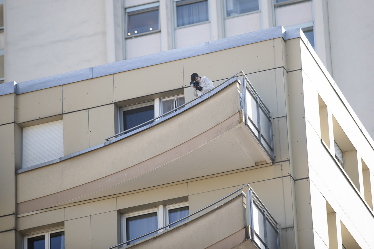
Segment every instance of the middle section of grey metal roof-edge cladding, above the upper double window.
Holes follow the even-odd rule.
[[[157,65],[160,63],[171,62],[188,57],[206,54],[206,44],[200,43],[179,49],[172,49],[151,55],[140,56],[132,59],[113,62],[105,65],[94,66],[92,76],[100,77],[108,74],[116,74],[132,69],[143,68],[146,66]]]

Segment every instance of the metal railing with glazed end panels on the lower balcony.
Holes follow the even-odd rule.
[[[242,190],[248,188],[248,192],[245,195]],[[123,243],[120,243],[115,246],[111,246],[108,249],[114,249],[118,248],[119,246],[126,245],[127,243],[130,243],[134,240],[141,239],[142,237],[148,236],[152,233],[155,233],[159,230],[167,229],[170,225],[176,224],[180,221],[183,221],[193,215],[198,214],[199,212],[204,211],[207,208],[210,208],[211,206],[214,206],[216,204],[223,205],[223,200],[229,198],[235,193],[240,193],[246,197],[246,222],[249,227],[250,233],[249,233],[249,239],[254,243],[254,245],[257,246],[258,249],[280,249],[280,243],[279,243],[279,227],[277,225],[277,222],[272,217],[270,212],[267,210],[265,205],[261,202],[261,200],[258,198],[256,193],[252,190],[251,186],[249,184],[245,184],[244,186],[240,187],[239,189],[235,190],[234,192],[228,194],[227,196],[217,200],[216,202],[213,202],[212,204],[206,206],[205,208],[202,208],[186,217],[181,218],[180,220],[174,221],[170,224],[167,224],[163,227],[158,228],[157,230],[151,231],[149,233],[146,233],[142,236],[139,236],[135,239],[127,240]],[[217,205],[217,206],[218,206]]]

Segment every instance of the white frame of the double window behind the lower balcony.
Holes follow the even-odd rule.
[[[157,212],[157,228],[160,228],[160,227],[163,227],[165,226],[166,224],[169,224],[169,210],[171,209],[175,209],[175,208],[183,208],[183,207],[186,207],[188,206],[188,209],[189,209],[189,205],[188,205],[188,201],[186,202],[178,202],[178,203],[174,203],[174,204],[167,204],[167,205],[159,205],[157,207],[154,207],[154,208],[148,208],[148,209],[142,209],[142,210],[139,210],[139,211],[134,211],[134,212],[129,212],[129,213],[123,213],[121,215],[121,241],[122,243],[123,242],[126,242],[128,240],[127,238],[127,228],[126,228],[126,218],[131,218],[131,217],[135,217],[135,216],[139,216],[139,215],[144,215],[144,214],[151,214],[151,213],[154,213],[154,212]],[[164,228],[164,229],[160,229],[158,231],[158,233],[164,231],[165,229],[168,229],[169,227],[167,228]],[[145,239],[147,237],[143,237],[141,240]],[[135,242],[129,242],[131,245],[132,243],[135,243]]]

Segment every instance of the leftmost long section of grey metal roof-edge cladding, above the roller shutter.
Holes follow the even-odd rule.
[[[18,83],[16,94],[27,93],[30,91],[41,90],[58,85],[64,85],[81,80],[88,80],[90,76],[89,68],[80,69],[63,74],[52,75],[45,78],[30,80]]]

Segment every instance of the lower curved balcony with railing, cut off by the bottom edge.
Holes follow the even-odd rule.
[[[245,194],[243,190],[248,191]],[[187,221],[168,228],[186,218]],[[129,244],[157,231],[159,233],[153,236]],[[122,246],[137,249],[181,247],[279,249],[279,227],[249,184],[245,184],[187,217],[108,249],[122,248]]]

